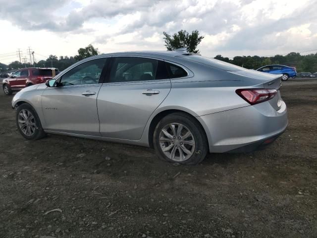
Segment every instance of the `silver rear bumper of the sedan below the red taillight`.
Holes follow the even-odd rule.
[[[266,140],[278,137],[288,124],[284,102],[278,111],[264,102],[198,119],[205,128],[211,153],[239,151],[242,147],[244,152],[257,149]]]

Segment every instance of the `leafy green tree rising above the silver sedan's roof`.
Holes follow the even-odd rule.
[[[185,30],[180,30],[174,35],[168,35],[166,32],[163,32],[165,47],[168,51],[174,51],[179,48],[187,48],[189,53],[199,53],[197,46],[204,39],[203,36],[199,36],[199,31],[192,31],[192,34],[189,34]]]

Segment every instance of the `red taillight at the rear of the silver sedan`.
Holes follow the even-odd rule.
[[[236,93],[251,105],[262,103],[273,98],[277,91],[275,89],[237,89]]]

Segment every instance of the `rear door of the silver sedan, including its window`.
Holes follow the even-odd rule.
[[[163,60],[112,58],[97,106],[104,137],[139,140],[151,114],[171,89]]]

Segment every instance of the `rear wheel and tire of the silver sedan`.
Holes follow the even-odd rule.
[[[183,165],[202,162],[209,151],[203,127],[186,113],[173,113],[161,119],[153,144],[160,159]]]

